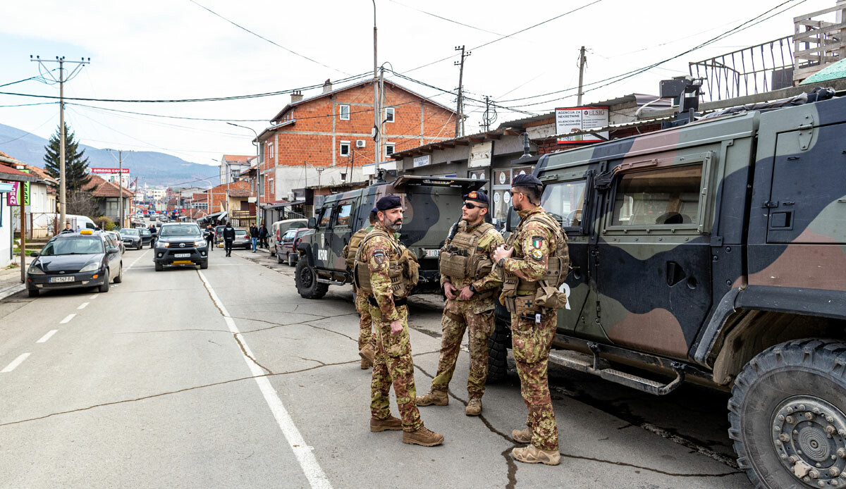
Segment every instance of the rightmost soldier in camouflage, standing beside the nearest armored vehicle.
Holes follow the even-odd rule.
[[[547,363],[552,338],[557,327],[557,311],[533,304],[537,281],[547,273],[550,252],[564,239],[560,225],[553,229],[546,212],[540,206],[541,180],[533,175],[523,174],[511,184],[511,201],[520,217],[517,230],[508,239],[508,246],[497,248],[494,260],[503,269],[506,288],[508,278],[516,277],[511,311],[511,332],[514,363],[520,378],[520,394],[523,396],[529,415],[528,428],[514,430],[511,436],[515,442],[530,443],[525,448],[514,448],[514,459],[530,464],[558,465],[558,426],[552,410],[549,394]],[[503,298],[506,295],[503,288]]]

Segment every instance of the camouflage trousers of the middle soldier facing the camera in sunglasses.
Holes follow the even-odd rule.
[[[447,299],[441,327],[441,354],[437,360],[437,375],[431,380],[431,389],[446,391],[449,387],[466,329],[470,343],[467,393],[470,398],[481,398],[485,393],[487,379],[487,338],[493,332],[493,299]]]

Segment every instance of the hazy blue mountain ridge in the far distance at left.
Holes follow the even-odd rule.
[[[0,151],[26,164],[44,168],[44,146],[47,140],[12,126],[0,124]],[[118,168],[112,155],[105,149],[80,145],[88,157],[88,168]],[[185,187],[209,187],[217,184],[215,178],[220,168],[211,165],[186,162],[156,151],[133,151],[129,157],[124,154],[124,168],[129,168],[132,179],[139,177],[139,184],[176,185]],[[211,177],[211,179],[209,179]],[[208,179],[194,181],[197,179]]]

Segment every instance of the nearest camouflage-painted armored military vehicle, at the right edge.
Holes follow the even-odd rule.
[[[658,395],[730,389],[755,487],[846,486],[846,96],[543,155],[534,174],[572,261],[550,360]]]

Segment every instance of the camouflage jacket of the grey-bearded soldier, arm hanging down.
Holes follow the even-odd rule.
[[[389,236],[393,236],[393,239],[387,239],[384,236],[367,239],[362,243],[363,248],[360,253],[363,259],[367,261],[367,267],[370,270],[373,298],[376,299],[376,304],[382,311],[382,321],[398,321],[400,316],[393,305],[393,290],[391,278],[387,275],[387,268],[389,261],[399,260],[402,254],[402,244],[397,239],[398,234],[393,234],[390,229],[383,227],[382,224],[376,224],[374,229],[381,229]]]

